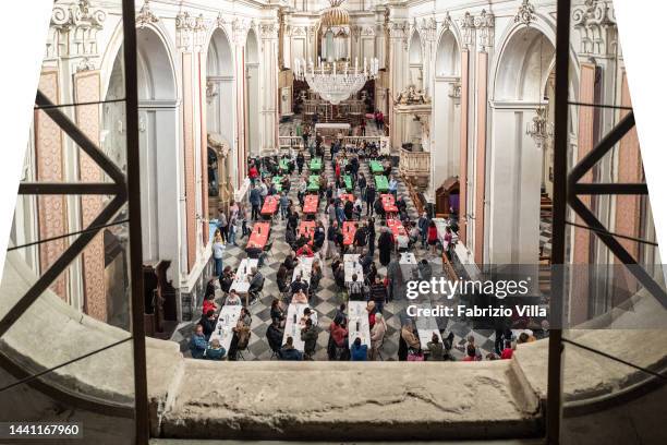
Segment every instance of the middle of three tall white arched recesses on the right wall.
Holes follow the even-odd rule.
[[[436,50],[433,122],[434,181],[439,187],[445,180],[458,177],[461,166],[461,55],[449,29],[440,36]]]

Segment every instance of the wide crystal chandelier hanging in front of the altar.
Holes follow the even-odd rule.
[[[294,77],[307,82],[323,99],[338,105],[359,93],[367,81],[377,77],[378,69],[379,62],[375,58],[369,62],[364,58],[363,69],[359,67],[359,59],[354,59],[354,68],[350,68],[348,62],[323,62],[322,58],[317,58],[317,65],[312,60],[306,63],[304,59],[296,59]]]

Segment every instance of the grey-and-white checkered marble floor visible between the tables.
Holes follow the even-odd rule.
[[[333,178],[333,171],[331,170],[331,163],[328,155],[328,149],[326,151],[326,171],[329,178]],[[307,157],[307,154],[306,154]],[[306,164],[307,166],[307,164]],[[368,171],[368,166],[366,161],[361,163],[361,170],[366,178],[371,178],[371,172]],[[304,173],[307,175],[307,167],[304,169]],[[293,200],[295,204],[298,204],[296,199],[296,189],[299,177],[296,172],[292,176],[292,188],[290,191],[290,197]],[[417,211],[414,206],[414,203],[410,200],[408,194],[408,190],[405,184],[400,180],[397,176],[397,180],[399,180],[398,187],[398,195],[405,196],[408,202],[408,213],[412,220],[416,220],[419,215]],[[355,191],[355,194],[359,193],[359,190]],[[327,218],[324,216],[325,204],[320,203],[319,206],[319,219],[323,220],[325,227],[328,226]],[[365,213],[365,204],[364,204],[364,213]],[[376,230],[377,234],[379,234],[379,218],[376,219]],[[258,302],[251,305],[252,313],[252,335],[250,339],[248,350],[243,352],[245,360],[270,360],[271,350],[266,340],[266,329],[271,323],[270,318],[270,304],[275,297],[279,297],[280,292],[278,291],[278,286],[276,282],[276,275],[278,268],[286,255],[290,251],[290,248],[284,242],[284,231],[286,231],[286,221],[280,220],[280,216],[278,215],[272,222],[271,226],[271,238],[275,240],[274,248],[269,253],[268,257],[265,260],[263,267],[260,268],[262,274],[264,275],[266,281],[264,286],[264,297],[259,299]],[[223,265],[232,266],[232,268],[237,267],[242,258],[246,256],[244,252],[245,243],[247,242],[247,238],[238,238],[237,242],[239,246],[234,246],[231,244],[227,245]],[[422,258],[426,258],[433,267],[434,276],[442,275],[442,263],[439,255],[432,255],[428,250],[424,250],[421,246],[415,246],[413,250],[415,257],[419,261]],[[379,264],[379,253],[376,249],[375,253],[375,263],[378,273],[383,276],[386,276],[387,269]],[[316,354],[314,357],[315,360],[327,360],[327,342],[329,338],[329,334],[326,328],[332,321],[332,317],[336,314],[336,309],[342,303],[341,297],[337,291],[337,286],[333,282],[333,277],[330,268],[330,261],[326,261],[323,264],[323,273],[324,277],[320,280],[320,289],[314,294],[311,301],[311,306],[317,311],[318,314],[318,330],[319,337],[317,339],[318,348],[316,350]],[[383,310],[383,315],[387,323],[387,335],[385,336],[385,342],[381,349],[381,356],[384,360],[398,360],[398,349],[399,349],[399,337],[400,337],[400,328],[401,328],[401,320],[404,317],[404,314],[401,312],[404,311],[404,302],[403,301],[392,301],[385,305]],[[218,303],[220,303],[218,299]],[[201,311],[197,312],[201,314]],[[197,318],[198,320],[198,318]],[[193,322],[196,323],[196,320]],[[442,326],[440,326],[442,327]],[[469,335],[475,337],[475,345],[480,347],[484,354],[493,351],[494,349],[494,339],[495,333],[492,329],[473,329],[472,323],[464,320],[447,320],[447,326],[445,329],[445,335],[448,335],[450,332],[454,334],[454,347],[465,345],[466,338]],[[187,350],[187,340],[192,333],[192,323],[183,324],[175,332],[172,337],[173,340],[179,341],[181,344],[181,350],[185,356],[189,356],[190,352]],[[453,348],[452,353],[458,359],[462,359],[463,354],[458,349]]]

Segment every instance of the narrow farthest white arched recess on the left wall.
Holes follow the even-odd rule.
[[[245,141],[251,156],[259,155],[259,43],[254,29],[245,40]]]

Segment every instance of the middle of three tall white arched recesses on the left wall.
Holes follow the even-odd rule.
[[[206,56],[206,132],[207,140],[223,141],[228,147],[231,147],[231,141],[234,141],[237,121],[233,73],[231,45],[225,31],[217,28],[211,35]],[[233,158],[235,153],[232,152],[222,159],[220,153],[210,144],[207,153],[209,196],[219,196],[220,187],[237,189],[238,167],[237,163],[230,161],[230,157]],[[209,205],[210,213],[215,213],[216,208]]]

